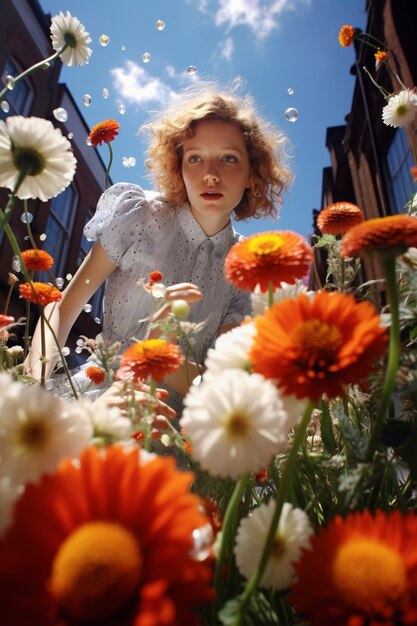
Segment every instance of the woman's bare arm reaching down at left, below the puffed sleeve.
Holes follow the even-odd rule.
[[[101,244],[96,242],[80,265],[74,278],[63,291],[62,300],[58,303],[48,304],[45,307],[45,317],[53,328],[61,348],[65,345],[70,330],[84,305],[115,268],[116,265],[110,261]],[[41,378],[41,346],[41,320],[39,320],[25,362],[26,372],[37,380]],[[58,356],[55,340],[45,324],[44,357],[46,360],[46,378],[51,376]]]

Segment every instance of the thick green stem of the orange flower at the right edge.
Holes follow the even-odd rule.
[[[395,386],[398,363],[400,361],[400,320],[399,320],[399,298],[397,291],[397,280],[395,273],[395,257],[391,256],[382,260],[382,267],[385,276],[387,300],[391,314],[391,328],[389,336],[388,363],[385,372],[384,386],[382,388],[381,400],[375,417],[371,437],[369,439],[368,458],[372,458],[380,442],[382,425],[387,414],[391,401],[392,392]]]

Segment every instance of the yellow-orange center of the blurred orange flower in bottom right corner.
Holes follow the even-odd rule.
[[[344,602],[357,609],[380,609],[406,590],[401,555],[375,539],[351,539],[333,564],[333,580]]]

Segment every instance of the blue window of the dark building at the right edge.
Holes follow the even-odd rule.
[[[410,143],[404,128],[395,133],[387,152],[387,165],[391,179],[393,212],[402,213],[414,191],[410,168],[413,165]]]

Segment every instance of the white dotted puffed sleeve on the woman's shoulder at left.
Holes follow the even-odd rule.
[[[100,197],[84,234],[89,241],[100,241],[112,263],[125,270],[164,239],[170,213],[138,185],[117,183]]]

